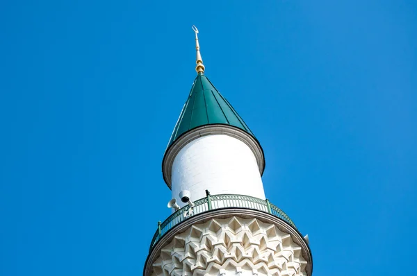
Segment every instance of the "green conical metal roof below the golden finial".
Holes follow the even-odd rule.
[[[218,89],[215,89],[210,80],[200,73],[194,80],[190,95],[175,125],[174,132],[172,132],[168,147],[188,130],[219,123],[235,126],[254,137],[238,112],[218,92]]]

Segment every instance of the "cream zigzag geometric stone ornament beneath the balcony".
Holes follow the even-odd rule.
[[[211,218],[175,234],[150,275],[306,276],[307,261],[290,234],[256,218]]]

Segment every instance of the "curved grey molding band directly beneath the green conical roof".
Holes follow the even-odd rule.
[[[174,159],[179,153],[179,150],[186,146],[186,144],[188,144],[190,141],[207,135],[228,135],[243,141],[243,143],[249,146],[249,148],[252,150],[252,153],[254,153],[256,163],[258,164],[259,173],[261,173],[261,175],[263,174],[263,170],[265,169],[265,158],[263,156],[263,150],[259,144],[259,141],[252,137],[252,135],[234,126],[222,124],[206,125],[194,128],[193,130],[184,133],[177,139],[177,141],[174,141],[174,144],[167,148],[163,157],[162,173],[163,179],[165,180],[167,186],[170,187],[170,189],[172,164],[174,163]]]

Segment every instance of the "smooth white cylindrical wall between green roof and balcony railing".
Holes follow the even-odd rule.
[[[172,164],[172,198],[181,202],[181,190],[191,200],[222,193],[243,194],[265,199],[261,174],[252,150],[234,137],[208,135],[190,141]]]

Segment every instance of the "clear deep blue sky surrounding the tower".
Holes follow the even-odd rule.
[[[6,0],[0,275],[142,275],[193,24],[313,275],[415,274],[416,1]]]

